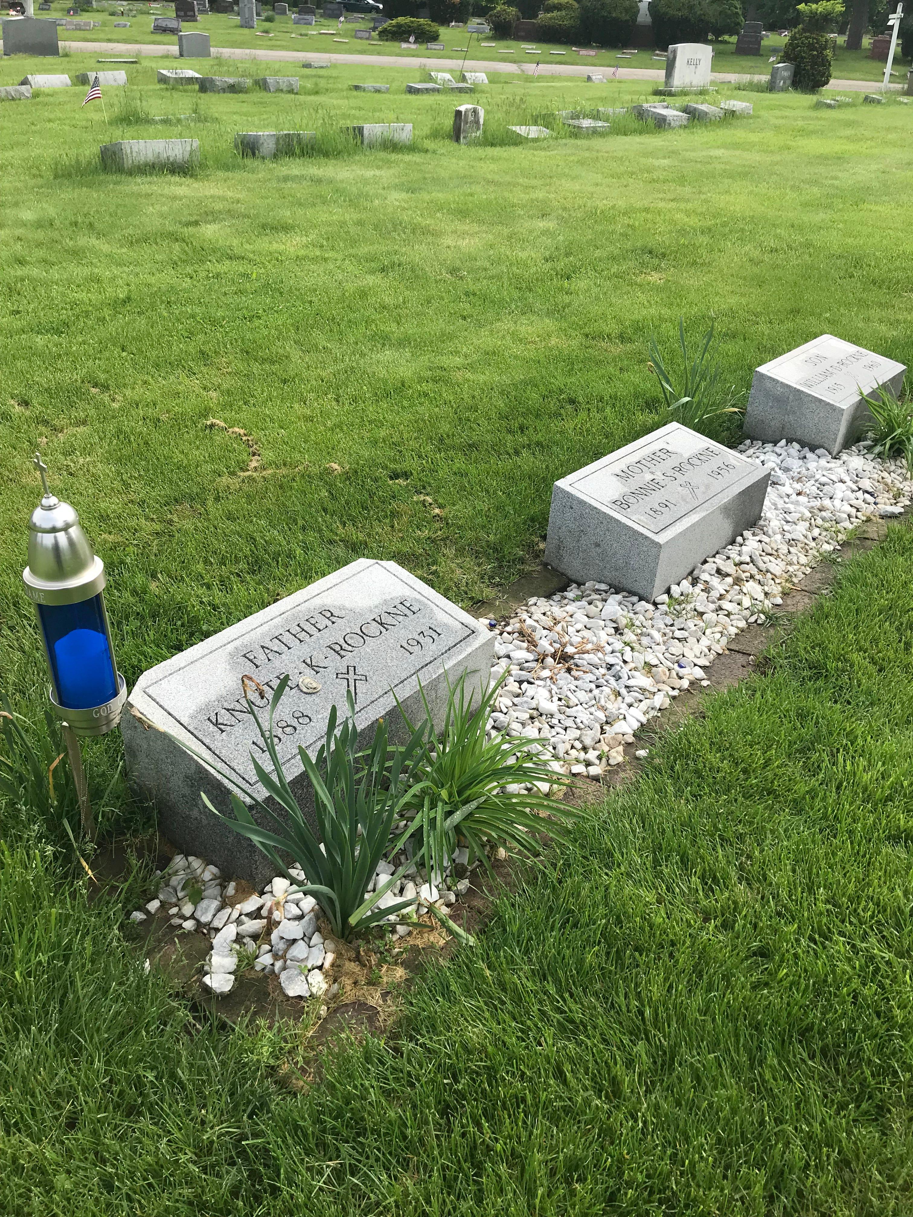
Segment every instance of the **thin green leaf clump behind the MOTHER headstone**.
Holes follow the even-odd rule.
[[[735,387],[724,388],[719,378],[719,344],[716,321],[710,323],[696,349],[689,346],[684,331],[684,318],[678,319],[678,347],[682,358],[680,371],[662,357],[654,335],[650,336],[650,361],[648,368],[656,376],[662,389],[666,410],[671,421],[680,422],[691,431],[708,433],[711,419],[724,414],[741,414],[736,405],[743,396]]]

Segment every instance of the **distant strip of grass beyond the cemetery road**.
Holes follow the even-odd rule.
[[[44,13],[43,16],[51,17],[63,17],[66,16],[67,5],[56,0],[50,13]],[[269,13],[269,9],[264,9],[264,12]],[[168,5],[162,5],[156,10],[156,13],[167,16],[170,12]],[[145,11],[138,12],[135,16],[130,17],[129,29],[114,29],[116,21],[128,19],[121,17],[119,10],[117,12],[107,10],[97,10],[95,12],[84,12],[82,17],[91,18],[93,21],[100,22],[99,29],[93,29],[91,32],[80,30],[63,30],[61,29],[60,37],[65,41],[80,43],[80,41],[110,41],[110,43],[145,43],[149,45],[175,46],[177,38],[174,35],[167,34],[152,34],[152,16],[155,13],[147,13]],[[662,71],[663,65],[656,62],[652,58],[652,51],[639,50],[633,58],[624,60],[620,58],[621,49],[610,47],[607,50],[599,50],[595,56],[579,56],[570,46],[564,46],[558,43],[532,43],[528,45],[536,46],[542,51],[540,56],[527,55],[523,50],[523,43],[512,39],[497,39],[494,35],[484,37],[472,34],[471,37],[465,29],[449,29],[447,27],[441,28],[439,41],[444,44],[443,51],[429,51],[422,45],[418,51],[403,51],[399,47],[399,43],[381,43],[376,39],[369,41],[355,39],[354,30],[358,28],[370,29],[370,19],[364,22],[346,22],[342,30],[337,28],[336,21],[321,21],[318,19],[317,24],[313,27],[307,26],[293,26],[291,15],[287,17],[276,17],[275,21],[259,21],[257,24],[257,32],[250,29],[241,29],[237,18],[226,17],[219,13],[212,13],[209,16],[201,17],[198,22],[189,24],[187,29],[198,29],[208,33],[212,39],[213,46],[224,47],[250,47],[252,50],[268,50],[268,51],[298,51],[302,55],[314,55],[314,54],[346,54],[346,55],[415,55],[416,60],[422,63],[432,63],[435,60],[441,58],[453,58],[454,55],[461,56],[463,51],[456,50],[458,47],[469,47],[469,58],[472,60],[491,60],[502,61],[517,65],[534,65],[537,58],[540,58],[543,63],[556,63],[556,65],[576,65],[577,67],[587,68],[612,68],[616,65],[622,68],[649,68],[654,71]],[[320,33],[324,30],[325,33]],[[330,37],[332,32],[334,37],[341,37],[348,39],[347,43],[334,41],[334,37]],[[846,51],[840,49],[838,56],[834,61],[834,77],[846,78],[851,80],[878,80],[880,82],[884,77],[885,65],[868,57],[868,39],[866,40],[866,49],[862,51]],[[494,46],[483,46],[482,43],[494,43]],[[745,75],[769,75],[768,58],[778,54],[785,43],[785,39],[777,34],[773,34],[763,44],[763,50],[760,56],[745,56],[735,54],[735,40],[717,43],[715,45],[715,58],[713,58],[713,71],[715,72],[738,72]],[[550,51],[564,51],[564,56],[550,55]],[[508,54],[512,52],[512,54]],[[895,62],[895,75],[894,82],[900,84],[906,79],[907,71],[909,69],[908,63],[901,62],[900,51],[897,52],[897,58]]]

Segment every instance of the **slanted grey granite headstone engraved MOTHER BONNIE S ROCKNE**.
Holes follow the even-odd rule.
[[[769,476],[670,422],[555,482],[545,561],[652,600],[757,521]]]

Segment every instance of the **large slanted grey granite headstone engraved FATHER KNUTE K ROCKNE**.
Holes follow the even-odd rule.
[[[420,719],[421,682],[439,722],[448,679],[469,673],[467,690],[487,682],[493,644],[494,636],[472,617],[401,566],[360,559],[145,672],[122,720],[131,785],[155,802],[162,831],[179,848],[259,884],[270,876],[270,863],[200,797],[205,790],[219,811],[230,808],[228,787],[213,769],[264,795],[251,752],[267,770],[273,767],[241,678],[259,682],[267,699],[284,674],[291,678],[274,734],[285,774],[307,812],[313,802],[298,746],[315,755],[334,703],[345,711],[352,694],[365,742],[380,717],[402,739],[397,699],[413,720]],[[265,708],[256,691],[251,700]],[[205,761],[190,757],[164,733]]]

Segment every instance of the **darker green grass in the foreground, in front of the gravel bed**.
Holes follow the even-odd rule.
[[[911,589],[896,528],[303,1092],[7,808],[0,1210],[907,1213]]]

